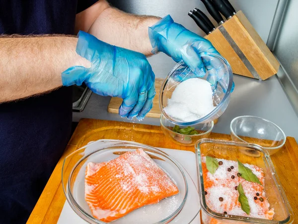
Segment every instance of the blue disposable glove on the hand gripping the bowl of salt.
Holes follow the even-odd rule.
[[[184,72],[177,70],[176,75],[174,75],[176,81],[195,77],[201,78],[208,71],[206,80],[211,83],[214,90],[218,84],[228,84],[227,77],[224,76],[223,72],[223,63],[217,58],[207,60],[201,57],[206,52],[220,55],[209,40],[191,32],[181,24],[175,23],[170,15],[163,17],[149,27],[148,32],[153,47],[152,53],[161,51],[176,62],[182,60],[191,69],[192,73],[189,70]],[[233,88],[234,84],[232,90]]]

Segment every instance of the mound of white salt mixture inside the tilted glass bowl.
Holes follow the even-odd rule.
[[[192,78],[177,85],[164,112],[172,118],[188,122],[206,116],[214,108],[210,83],[200,78]]]

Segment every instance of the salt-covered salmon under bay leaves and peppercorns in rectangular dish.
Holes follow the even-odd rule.
[[[262,184],[260,185],[238,177],[238,163],[236,161],[225,159],[217,160],[222,161],[223,164],[217,168],[214,174],[211,174],[206,166],[206,157],[202,157],[202,171],[206,195],[205,198],[208,207],[214,212],[221,214],[226,212],[227,215],[272,220],[274,216],[274,209],[269,209],[270,205],[266,198],[264,188],[265,178],[263,170],[258,166],[244,164],[244,166],[251,169],[252,172],[258,177]],[[233,179],[231,178],[232,176]],[[239,183],[241,183],[245,196],[248,199],[250,207],[249,215],[242,211],[241,205],[238,202],[239,193],[235,187],[238,186]],[[223,198],[223,201],[219,201],[220,197]],[[256,200],[254,199],[255,197],[257,198]],[[263,201],[260,201],[260,198],[262,198]],[[211,218],[210,221],[204,223],[221,224],[226,222]]]

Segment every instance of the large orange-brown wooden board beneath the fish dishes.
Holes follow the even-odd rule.
[[[217,133],[211,133],[209,138],[231,140],[230,135]],[[81,119],[27,224],[57,224],[66,200],[61,184],[63,161],[66,156],[78,148],[98,139],[120,139],[153,147],[195,151],[194,146],[175,144],[162,133],[160,126]],[[293,209],[294,219],[298,220],[298,145],[295,138],[287,137],[286,144],[271,158]]]

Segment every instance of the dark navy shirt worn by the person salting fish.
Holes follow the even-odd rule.
[[[0,34],[74,34],[75,14],[96,1],[0,0]],[[68,143],[71,122],[70,87],[0,104],[0,224],[26,223]]]

